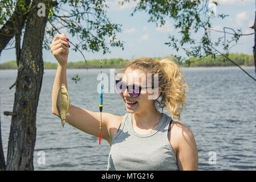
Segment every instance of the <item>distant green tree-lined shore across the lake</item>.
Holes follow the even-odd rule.
[[[212,67],[237,67],[237,65],[234,65],[231,63],[231,61],[228,61],[224,59],[224,57],[216,56],[218,59],[213,59],[211,56],[205,56],[201,59],[198,59],[196,57],[190,57],[188,62],[189,63],[179,63],[178,60],[174,59],[174,61],[177,62],[177,64],[180,65],[181,68],[212,68]],[[162,59],[161,57],[152,57],[153,59]],[[164,57],[165,58],[165,57]],[[173,60],[172,57],[170,59]],[[253,55],[245,55],[243,53],[230,53],[229,59],[233,60],[236,64],[238,64],[240,67],[254,67],[254,57]],[[102,61],[102,67],[103,68],[109,68],[109,69],[122,69],[125,67],[125,65],[129,62],[128,59],[122,59],[122,58],[112,58],[112,59],[103,59]],[[56,69],[58,67],[57,61],[55,63],[50,63],[44,61],[43,63],[44,69]],[[67,63],[67,69],[99,69],[100,68],[100,60],[99,59],[93,59],[93,60],[87,60],[87,63],[85,61],[78,61],[78,62],[68,62]],[[16,61],[9,61],[6,63],[0,63],[0,69],[17,69],[17,63]]]

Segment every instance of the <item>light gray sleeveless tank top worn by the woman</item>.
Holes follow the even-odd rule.
[[[152,133],[138,134],[132,127],[132,114],[125,114],[112,140],[107,170],[177,170],[177,159],[168,139],[171,122],[172,118],[162,113]]]

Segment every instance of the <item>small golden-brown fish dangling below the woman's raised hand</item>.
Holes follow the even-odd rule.
[[[67,122],[66,115],[70,115],[67,113],[70,105],[70,97],[68,96],[67,88],[62,84],[57,97],[57,109],[60,114],[60,119],[62,120],[62,127],[64,127],[64,123]]]

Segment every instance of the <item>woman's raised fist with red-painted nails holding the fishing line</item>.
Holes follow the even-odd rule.
[[[62,66],[67,65],[68,47],[70,44],[64,33],[57,34],[50,44],[52,54]]]

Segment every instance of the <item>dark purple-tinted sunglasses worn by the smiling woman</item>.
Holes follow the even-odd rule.
[[[119,93],[124,93],[124,91],[127,89],[128,93],[131,97],[139,97],[140,96],[140,91],[141,89],[148,89],[148,88],[153,88],[152,87],[141,87],[138,85],[126,85],[125,82],[121,80],[116,80],[116,89],[117,92]]]

